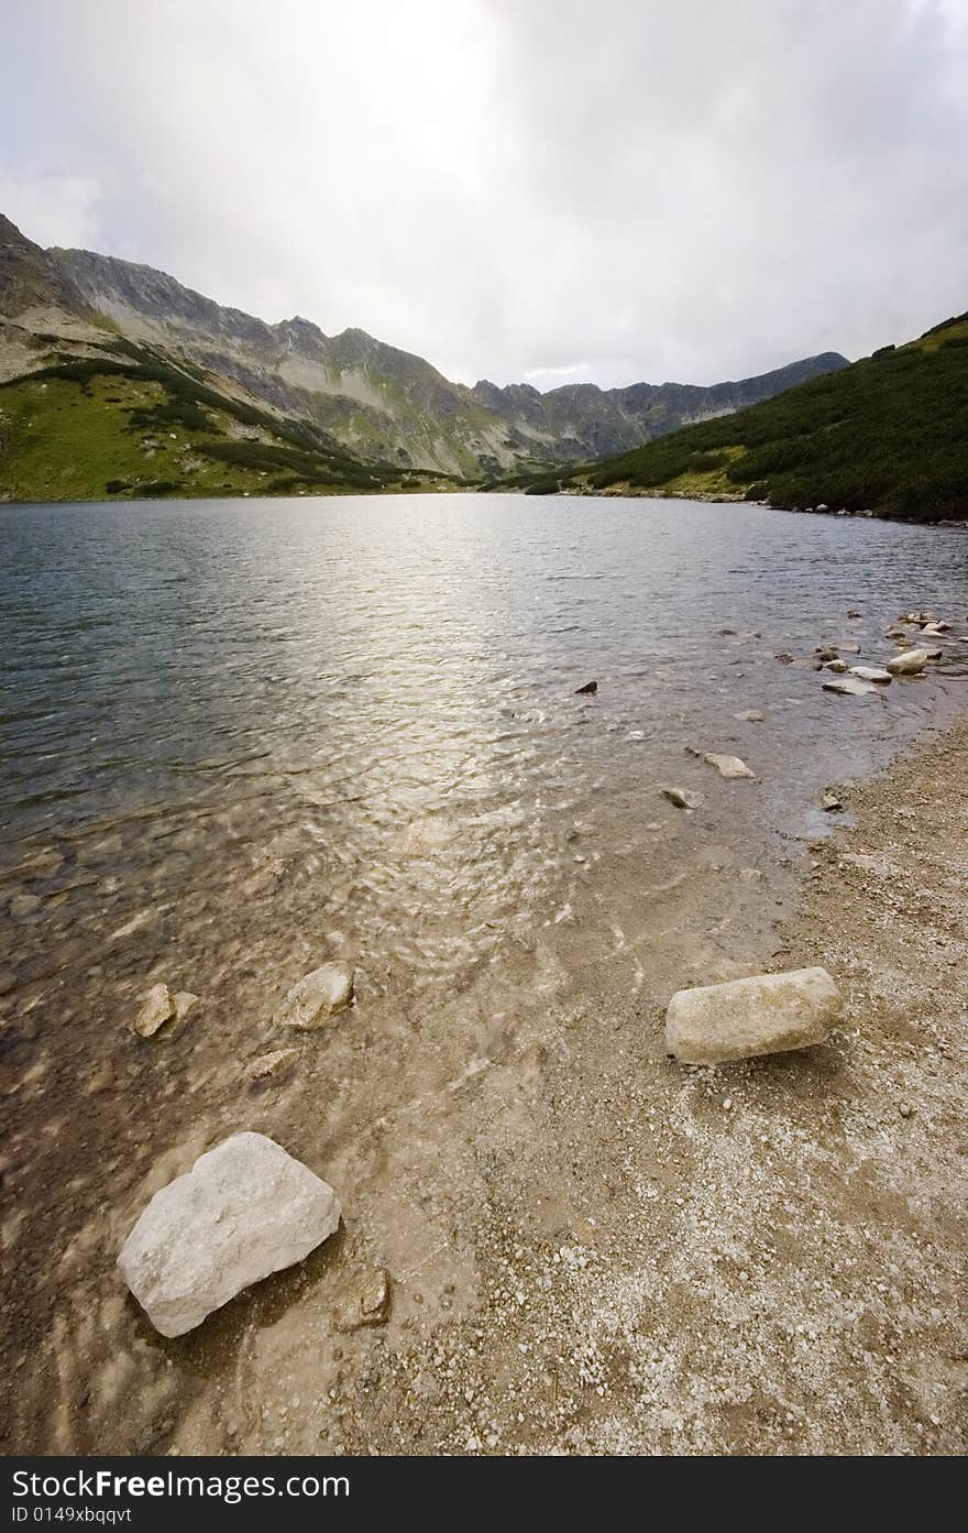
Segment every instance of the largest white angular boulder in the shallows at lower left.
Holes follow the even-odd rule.
[[[156,1331],[184,1335],[334,1233],[340,1202],[265,1134],[224,1139],[150,1200],[118,1257]]]

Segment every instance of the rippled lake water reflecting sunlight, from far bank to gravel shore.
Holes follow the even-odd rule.
[[[328,1046],[348,1141],[394,1098],[384,1026],[415,1079],[444,1079],[536,996],[613,987],[645,1016],[677,983],[767,958],[830,823],[824,785],[968,698],[959,530],[414,495],[14,506],[0,543],[15,1346],[40,1344],[58,1292],[78,1303],[170,1145],[282,1136],[239,1081],[308,969],[357,964],[357,1042]],[[878,696],[777,658],[853,642],[881,664],[910,607],[950,619],[945,659]],[[757,780],[689,751],[738,754]],[[156,980],[202,1003],[147,1046],[127,1023]],[[285,1142],[331,1134],[338,1157],[319,1102],[289,1099]],[[51,1220],[77,1240],[38,1283]],[[25,1400],[43,1421],[41,1386]]]

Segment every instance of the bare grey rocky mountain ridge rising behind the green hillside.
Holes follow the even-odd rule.
[[[363,460],[472,478],[623,452],[847,365],[826,353],[712,388],[580,383],[541,394],[486,380],[466,388],[361,330],[325,336],[299,316],[270,325],[153,267],[89,250],[43,251],[0,219],[0,313],[17,316],[38,302],[101,317],[260,405],[322,426]]]

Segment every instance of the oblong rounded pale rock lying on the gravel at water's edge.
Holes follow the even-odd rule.
[[[677,990],[666,1047],[686,1064],[721,1064],[822,1042],[841,1012],[826,969],[793,969]]]

